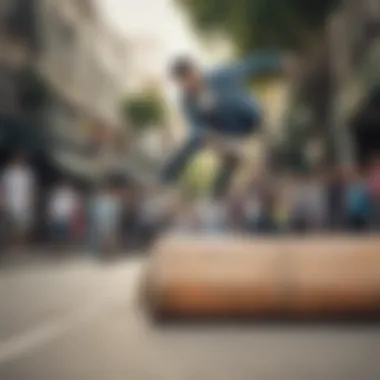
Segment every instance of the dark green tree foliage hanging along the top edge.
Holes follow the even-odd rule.
[[[231,37],[240,53],[305,49],[338,0],[177,0],[197,28]]]

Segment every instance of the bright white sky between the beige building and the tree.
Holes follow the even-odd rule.
[[[174,57],[185,54],[199,59],[206,67],[213,66],[219,61],[220,55],[224,54],[224,41],[221,48],[219,45],[215,48],[215,43],[212,44],[212,49],[201,44],[186,14],[174,5],[174,0],[97,1],[105,21],[124,35],[129,43],[132,41],[135,45],[143,45],[141,41],[144,39],[156,43],[154,49],[145,49],[148,52],[143,53],[142,57],[140,54],[137,65],[133,64],[135,69],[130,82],[133,83],[132,88],[138,91],[144,86],[142,78],[146,79],[153,72],[152,77],[159,79],[159,85],[171,104],[170,108],[177,122],[180,114],[178,94],[168,80],[168,63]],[[139,55],[133,51],[133,56]]]

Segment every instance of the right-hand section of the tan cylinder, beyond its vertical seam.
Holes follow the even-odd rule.
[[[294,242],[287,308],[292,314],[380,312],[380,240]]]

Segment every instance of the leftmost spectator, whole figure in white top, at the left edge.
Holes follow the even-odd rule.
[[[23,246],[30,237],[36,201],[36,179],[25,157],[15,157],[5,168],[1,187],[12,240]]]

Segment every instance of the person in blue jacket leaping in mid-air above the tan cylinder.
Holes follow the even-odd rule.
[[[211,146],[222,160],[213,196],[224,197],[239,165],[240,147],[263,120],[258,100],[246,89],[249,80],[268,72],[288,72],[295,68],[294,62],[281,54],[262,52],[204,73],[191,59],[177,59],[171,76],[182,93],[189,137],[165,167],[164,183],[174,182],[200,149]]]

